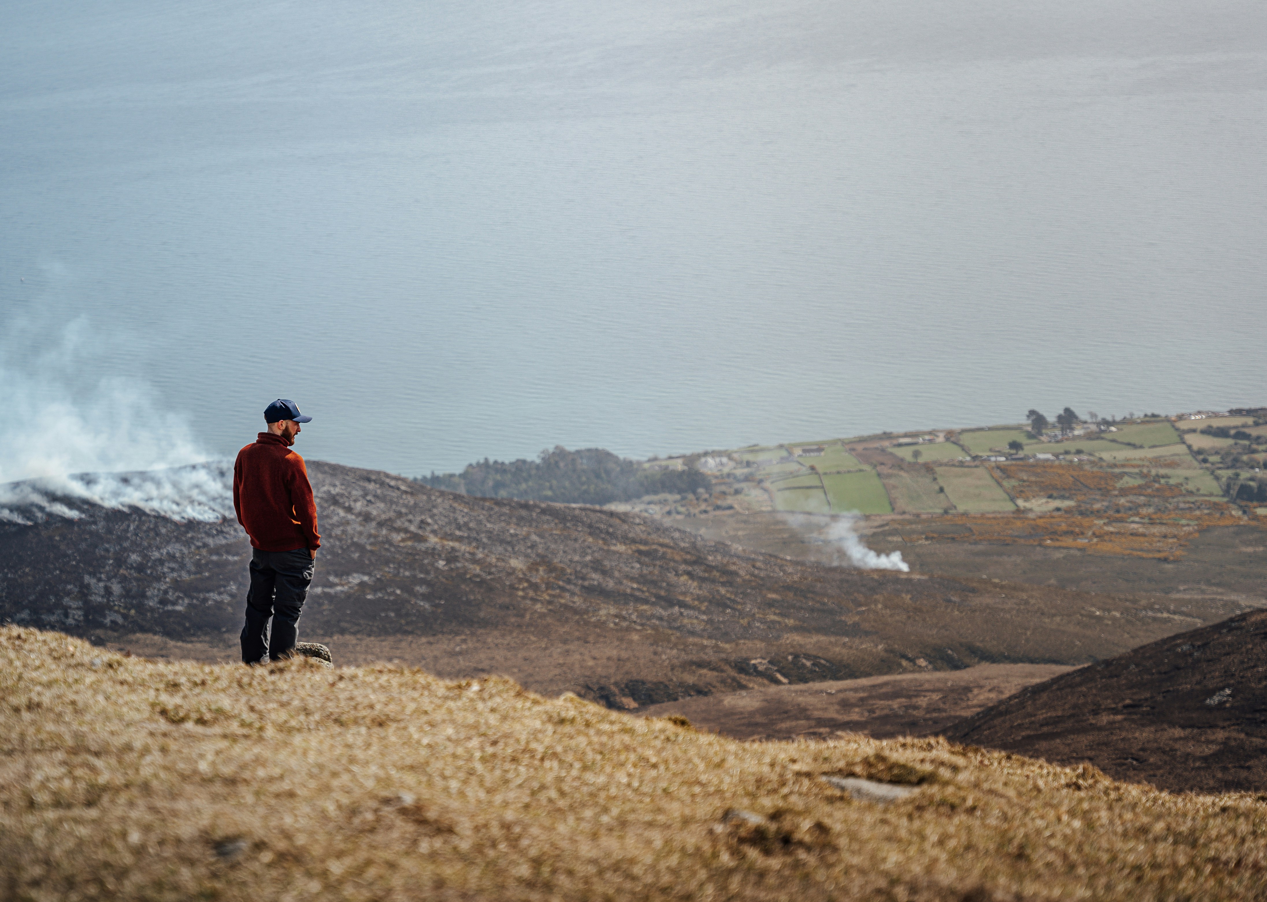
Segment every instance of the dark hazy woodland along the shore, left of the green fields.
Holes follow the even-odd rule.
[[[712,489],[712,480],[698,470],[649,470],[606,448],[569,451],[563,446],[542,451],[537,460],[503,462],[485,457],[468,464],[461,473],[432,473],[414,481],[481,498],[563,504],[608,504],[642,495]]]

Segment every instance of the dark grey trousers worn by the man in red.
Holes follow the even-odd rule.
[[[269,659],[276,661],[295,647],[299,612],[308,598],[315,565],[308,549],[252,551],[251,589],[246,593],[246,626],[242,627],[242,660],[246,664]]]

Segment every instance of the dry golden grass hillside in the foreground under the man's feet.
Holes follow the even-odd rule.
[[[0,687],[5,899],[1267,898],[1267,797],[941,740],[744,744],[504,679],[16,627]]]

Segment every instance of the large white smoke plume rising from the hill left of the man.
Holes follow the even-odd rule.
[[[0,519],[137,508],[172,519],[232,516],[229,467],[136,379],[85,379],[101,336],[86,318],[49,329],[9,318],[0,340]]]

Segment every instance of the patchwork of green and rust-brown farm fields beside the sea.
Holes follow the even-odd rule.
[[[916,518],[900,530],[906,541],[1168,560],[1211,526],[1267,526],[1267,408],[1078,424],[1068,435],[1002,424],[708,454],[729,461],[712,474],[710,498],[616,507],[673,518]]]

